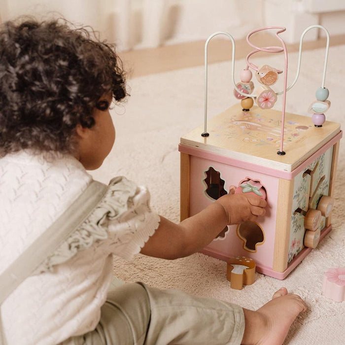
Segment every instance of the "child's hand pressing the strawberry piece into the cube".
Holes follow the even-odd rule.
[[[231,188],[229,194],[219,198],[219,203],[225,210],[228,217],[228,224],[240,224],[246,220],[255,221],[258,216],[265,214],[267,203],[265,200],[243,193],[234,194],[235,189]]]

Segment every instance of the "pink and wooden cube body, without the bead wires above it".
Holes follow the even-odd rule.
[[[209,137],[201,136],[203,126],[183,136],[180,209],[183,220],[231,185],[262,186],[266,215],[228,226],[202,252],[225,261],[250,257],[257,272],[283,279],[331,230],[327,196],[333,194],[342,131],[335,122],[316,128],[311,117],[286,113],[286,154],[280,156],[280,127],[280,111],[242,111],[236,104],[208,121]]]

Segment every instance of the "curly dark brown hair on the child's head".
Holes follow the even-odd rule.
[[[31,148],[72,152],[80,123],[91,128],[93,108],[108,93],[127,96],[113,45],[66,20],[33,18],[0,29],[0,157]]]

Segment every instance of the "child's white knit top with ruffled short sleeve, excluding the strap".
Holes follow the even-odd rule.
[[[30,152],[0,159],[0,274],[86,189],[92,177],[71,156]],[[132,259],[159,216],[146,188],[124,177],[1,305],[8,344],[49,345],[93,330],[113,275],[112,255]]]

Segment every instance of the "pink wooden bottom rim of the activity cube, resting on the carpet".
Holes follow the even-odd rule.
[[[329,225],[327,228],[324,228],[321,231],[320,235],[320,242],[323,240],[323,238],[332,230],[332,225]],[[273,271],[271,268],[256,264],[256,272],[261,273],[265,276],[272,276],[277,279],[284,279],[286,276],[288,276],[295,268],[296,266],[302,262],[302,260],[311,252],[312,248],[304,247],[300,253],[289,263],[287,266],[287,269],[284,272],[276,272]],[[216,252],[215,250],[204,248],[201,250],[201,253],[206,254],[208,256],[212,256],[216,259],[228,261],[229,259],[232,259],[233,256],[227,255],[227,254],[220,254]]]

